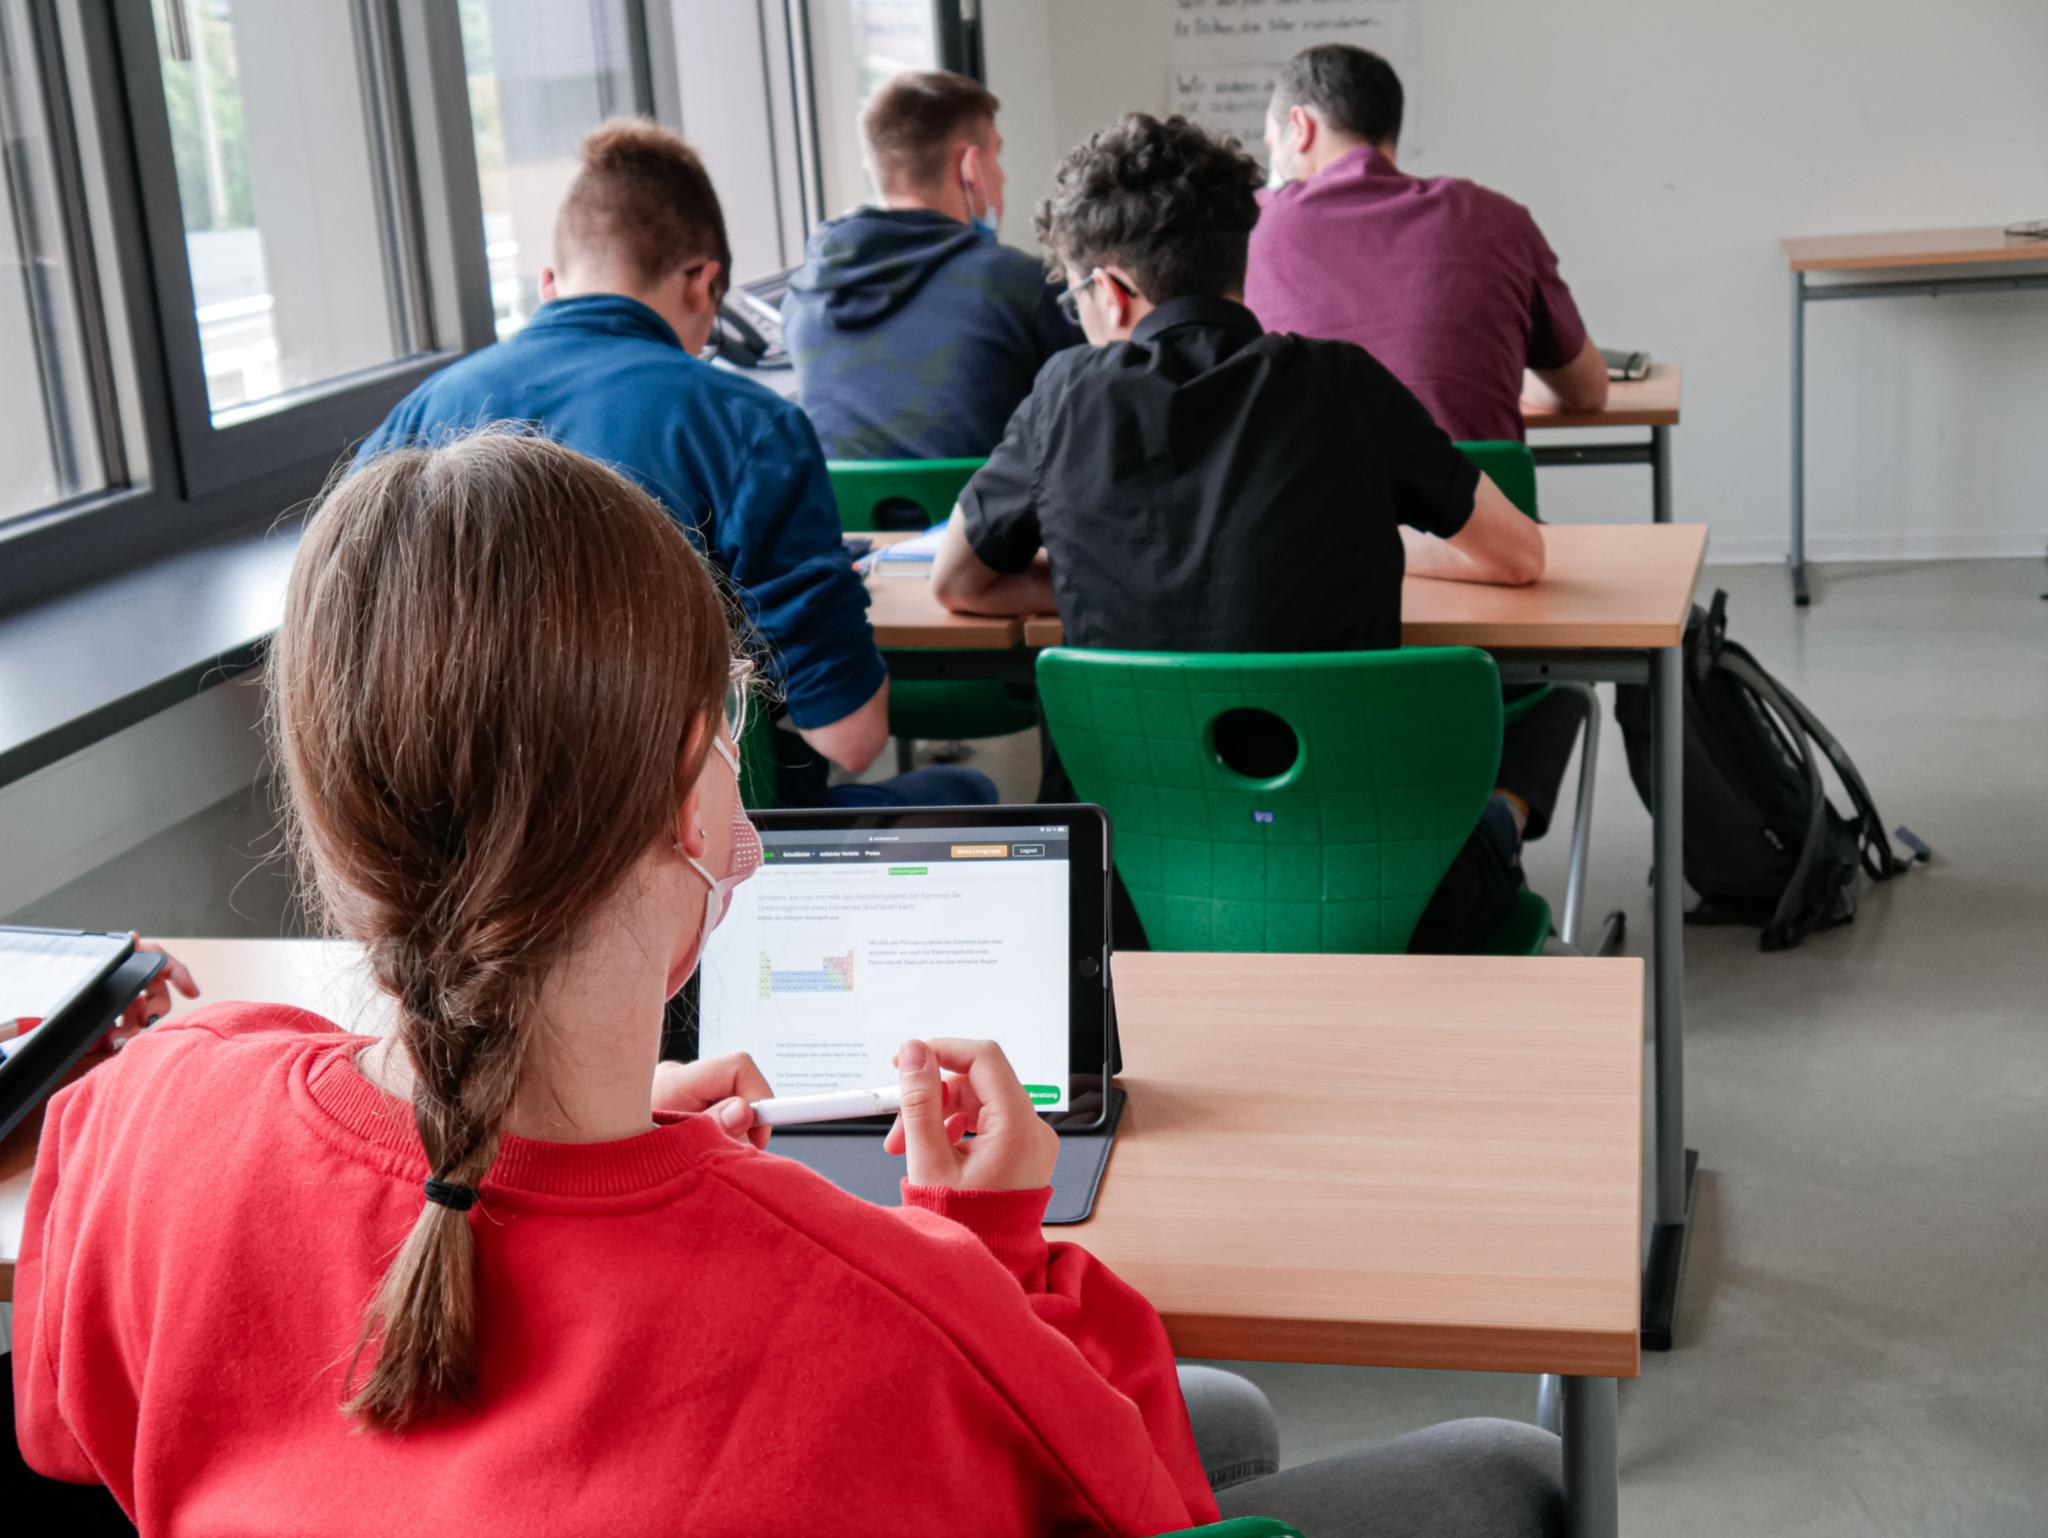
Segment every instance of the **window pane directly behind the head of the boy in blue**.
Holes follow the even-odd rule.
[[[578,143],[637,106],[635,35],[627,0],[461,0],[461,20],[492,311],[510,336],[541,303]]]

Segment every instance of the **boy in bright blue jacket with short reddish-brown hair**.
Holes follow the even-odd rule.
[[[397,403],[356,463],[483,422],[530,422],[651,492],[729,578],[786,702],[780,805],[975,805],[979,770],[934,766],[827,788],[889,741],[889,676],[868,594],[840,541],[805,414],[698,360],[731,274],[725,213],[674,133],[618,121],[584,139],[555,221],[543,305],[516,336],[449,365]]]

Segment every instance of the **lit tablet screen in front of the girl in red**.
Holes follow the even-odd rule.
[[[752,1053],[799,1096],[895,1083],[905,1036],[985,1036],[1067,1110],[1071,823],[760,823],[705,952],[700,1055]]]

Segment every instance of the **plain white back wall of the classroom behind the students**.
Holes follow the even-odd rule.
[[[1415,0],[1409,166],[1526,203],[1593,334],[1686,365],[1675,508],[1718,559],[1788,518],[1784,236],[2048,217],[2042,0]],[[1012,211],[1122,111],[1163,111],[1171,0],[991,0]],[[2048,256],[2048,252],[2044,252]],[[1819,559],[2040,555],[2048,293],[1808,309]],[[1640,471],[1544,473],[1552,518],[1640,518]]]

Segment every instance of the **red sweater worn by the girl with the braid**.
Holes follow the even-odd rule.
[[[700,1116],[508,1137],[471,1214],[481,1386],[338,1409],[420,1212],[362,1036],[217,1006],[49,1106],[14,1272],[20,1448],[147,1534],[1157,1534],[1217,1518],[1151,1307],[1047,1192],[868,1206]]]

